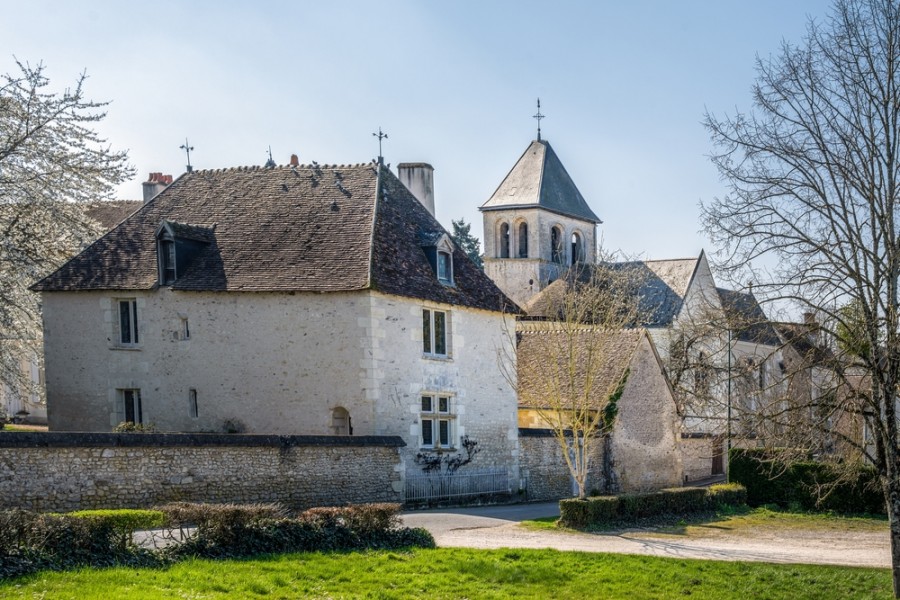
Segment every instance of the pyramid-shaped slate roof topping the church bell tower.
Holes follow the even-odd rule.
[[[546,140],[535,140],[479,210],[540,207],[561,215],[602,223]]]

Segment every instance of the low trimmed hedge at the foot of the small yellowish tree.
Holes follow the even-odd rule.
[[[723,505],[740,506],[746,500],[746,490],[737,484],[670,488],[644,494],[593,496],[583,500],[572,498],[559,502],[559,523],[564,527],[584,529],[616,521],[714,510]]]

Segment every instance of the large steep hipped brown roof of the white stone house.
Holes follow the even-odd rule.
[[[485,310],[518,308],[458,248],[455,286],[437,281],[420,245],[445,230],[387,168],[374,163],[242,167],[179,177],[36,291],[149,290],[164,221],[212,232],[172,285],[192,291],[389,294]]]

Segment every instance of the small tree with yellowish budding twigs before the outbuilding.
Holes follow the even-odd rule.
[[[628,376],[635,344],[622,337],[642,335],[633,329],[638,289],[634,271],[609,263],[575,266],[528,308],[529,319],[517,322],[509,346],[516,355],[500,356],[520,408],[552,431],[579,498]]]

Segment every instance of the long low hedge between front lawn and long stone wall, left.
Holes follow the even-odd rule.
[[[185,557],[434,547],[424,529],[402,527],[399,504],[317,508],[296,517],[276,504],[175,503],[155,511],[41,514],[0,510],[0,578],[81,566],[154,566]],[[136,529],[165,525],[178,543],[138,548]]]

